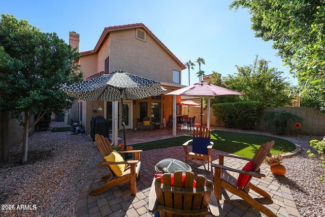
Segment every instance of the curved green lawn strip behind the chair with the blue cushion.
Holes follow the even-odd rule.
[[[158,148],[180,146],[191,138],[192,135],[186,135],[181,137],[134,144],[133,147],[138,150],[152,150]],[[284,153],[290,152],[296,148],[294,143],[272,136],[227,131],[211,131],[211,141],[214,142],[213,149],[233,153],[245,158],[253,158],[256,150],[261,144],[272,140],[275,141],[275,145],[271,150],[272,154],[281,152],[282,150]]]

